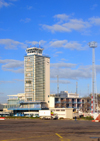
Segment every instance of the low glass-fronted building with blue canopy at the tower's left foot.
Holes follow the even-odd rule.
[[[41,109],[48,109],[46,102],[25,101],[25,93],[8,96],[7,109],[12,115],[22,116],[24,112],[38,112]]]

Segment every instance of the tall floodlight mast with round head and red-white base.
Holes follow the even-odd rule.
[[[97,42],[89,42],[88,45],[92,48],[92,96],[91,96],[91,113],[95,113],[95,93],[94,93],[94,76],[95,76],[95,48]]]

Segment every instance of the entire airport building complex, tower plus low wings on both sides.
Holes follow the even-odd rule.
[[[82,109],[84,103],[76,93],[62,91],[50,95],[50,57],[42,54],[43,48],[29,47],[26,53],[24,93],[9,95],[7,105],[4,105],[5,111],[22,115],[24,112],[38,112],[48,108],[60,108],[59,111],[62,111],[61,108]]]

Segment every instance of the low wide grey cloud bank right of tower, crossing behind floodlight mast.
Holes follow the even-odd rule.
[[[92,78],[92,66],[80,66],[79,68],[71,69],[70,67],[55,67],[51,68],[51,78],[56,78],[59,75],[59,78],[62,79],[88,79]],[[100,73],[100,65],[95,65],[97,74]]]

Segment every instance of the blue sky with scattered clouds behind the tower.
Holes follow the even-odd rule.
[[[100,93],[100,0],[0,0],[0,103],[24,92],[27,46],[50,56],[50,91],[92,91],[92,49],[96,41],[96,90]],[[88,87],[89,86],[89,87]]]

